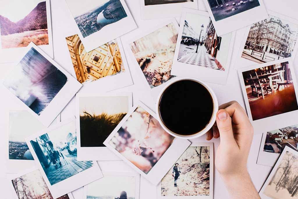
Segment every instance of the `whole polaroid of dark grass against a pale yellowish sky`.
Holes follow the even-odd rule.
[[[103,142],[132,108],[132,93],[76,95],[77,159],[121,160]]]

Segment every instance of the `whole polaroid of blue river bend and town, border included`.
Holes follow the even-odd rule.
[[[86,52],[137,28],[124,0],[66,0]]]

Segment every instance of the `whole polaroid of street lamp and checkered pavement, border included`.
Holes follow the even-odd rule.
[[[235,32],[217,36],[209,14],[193,9],[183,9],[180,24],[171,75],[226,84]]]

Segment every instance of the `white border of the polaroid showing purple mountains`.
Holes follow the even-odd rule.
[[[52,37],[52,22],[51,22],[51,5],[50,0],[46,1],[46,20],[48,26],[48,39],[49,44],[47,45],[39,45],[38,47],[44,51],[50,58],[54,58],[54,50],[53,50],[53,37]],[[20,4],[21,5],[21,4]],[[1,24],[0,24],[1,27]],[[1,37],[1,29],[0,29],[0,37]],[[15,55],[20,55],[24,52],[26,47],[17,47],[17,48],[8,48],[2,49],[1,48],[1,39],[0,39],[0,63],[9,63],[15,62]]]

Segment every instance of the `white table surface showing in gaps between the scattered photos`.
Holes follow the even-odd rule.
[[[199,10],[206,11],[204,2],[202,0],[198,0],[198,1],[199,1],[198,2]],[[128,7],[139,27],[138,29],[142,29],[146,27],[148,28],[151,25],[158,24],[159,22],[164,20],[164,19],[158,19],[158,20],[143,21],[140,17],[141,13],[140,13],[140,7],[139,7],[139,0],[126,0],[126,3],[128,4]],[[298,19],[298,15],[297,15],[298,2],[296,0],[284,0],[284,1],[264,0],[264,3],[267,9]],[[71,62],[69,61],[69,52],[67,50],[66,41],[65,41],[65,37],[69,36],[69,31],[74,30],[74,27],[71,27],[70,25],[72,24],[70,12],[66,6],[65,1],[63,0],[51,0],[51,12],[52,12],[52,32],[53,32],[55,61],[58,62],[67,71],[71,71],[73,70],[73,68],[72,68]],[[180,20],[180,18],[177,18],[177,19]],[[180,23],[180,21],[178,22]],[[138,29],[134,31],[140,31]],[[242,92],[240,89],[238,75],[236,70],[233,69],[235,61],[237,61],[238,59],[237,55],[238,55],[240,43],[243,39],[243,34],[244,34],[243,29],[240,29],[237,31],[234,51],[232,56],[232,66],[230,67],[227,84],[225,86],[221,86],[217,84],[209,84],[214,89],[218,97],[219,104],[236,100],[244,107],[244,101],[243,101]],[[127,36],[129,36],[129,33],[127,35],[122,36],[122,38],[125,38]],[[133,61],[135,60],[128,59],[128,65],[131,66],[131,63]],[[294,61],[294,64],[298,65],[298,59]],[[0,64],[1,79],[4,78],[5,72],[9,71],[12,66],[13,64],[11,63]],[[146,92],[146,90],[144,89],[145,85],[141,84],[142,82],[141,78],[143,77],[139,77],[136,75],[137,74],[136,70],[139,70],[139,69],[130,67],[130,70],[134,81],[134,85],[122,88],[119,91],[133,92],[134,102],[136,102],[137,100],[140,100],[144,104],[146,104],[150,109],[154,110],[155,108],[154,101],[152,100],[150,94]],[[3,90],[4,90],[4,87],[1,84],[0,93]],[[7,136],[8,132],[6,132],[6,128],[5,128],[7,124],[4,124],[4,117],[8,117],[9,108],[7,104],[10,103],[10,99],[7,98],[7,96],[1,96],[0,101],[1,101],[0,103],[0,113],[1,113],[0,130],[1,131],[0,132],[2,136]],[[61,112],[61,121],[74,116],[74,114],[75,114],[75,104],[74,104],[74,100],[72,100],[69,103],[69,105],[63,110],[63,112]],[[254,139],[252,142],[252,147],[251,147],[249,159],[248,159],[249,173],[258,191],[261,189],[263,183],[265,182],[271,170],[271,167],[256,164],[262,133],[263,132],[258,132],[258,130],[255,129]],[[5,143],[5,140],[6,139],[0,140],[0,160],[3,160],[3,161],[0,161],[1,162],[0,163],[0,185],[1,185],[0,198],[8,199],[8,198],[11,198],[11,193],[10,193],[10,190],[7,189],[7,184],[11,182],[7,181],[7,179],[5,178],[6,174],[5,174],[4,163],[3,163],[4,157],[7,157],[7,154],[6,154],[7,143]],[[205,136],[202,136],[201,138],[197,138],[191,141],[206,142]],[[214,142],[215,155],[216,155],[216,149],[219,144],[219,139],[217,140],[212,139],[211,142]],[[122,170],[122,171],[132,170],[129,166],[127,166],[122,161],[101,161],[99,162],[99,165],[100,165],[100,168],[103,170]],[[215,172],[214,198],[216,199],[229,198],[228,192],[226,191],[225,185],[221,180],[219,173],[216,171],[216,169],[214,172]],[[61,187],[61,189],[63,189],[63,187]],[[81,199],[83,196],[83,189],[78,189],[72,193],[75,199]],[[140,199],[155,199],[155,198],[157,198],[156,187],[141,177]]]

